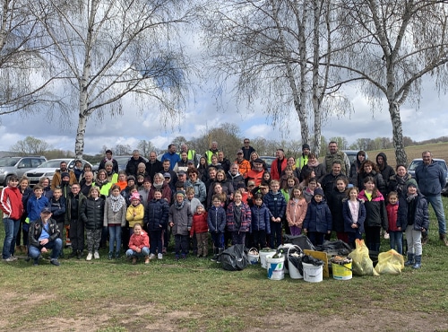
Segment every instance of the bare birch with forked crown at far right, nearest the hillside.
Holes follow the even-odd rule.
[[[362,90],[374,109],[387,100],[398,163],[406,163],[400,108],[418,107],[424,75],[435,90],[446,89],[448,76],[448,2],[342,0],[341,35],[346,48],[333,65],[349,80],[363,80]],[[348,81],[349,81],[348,80]]]

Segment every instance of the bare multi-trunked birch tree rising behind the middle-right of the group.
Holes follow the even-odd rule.
[[[331,67],[321,66],[332,52],[331,2],[207,2],[203,17],[211,70],[217,70],[222,85],[237,81],[231,89],[237,103],[263,109],[280,129],[289,128],[294,109],[302,142],[319,151],[324,112],[330,105],[325,96],[338,89],[331,80]],[[338,109],[337,103],[331,104]],[[310,124],[314,124],[313,142]]]

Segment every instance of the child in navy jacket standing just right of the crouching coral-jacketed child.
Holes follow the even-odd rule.
[[[168,223],[169,205],[166,199],[162,199],[162,190],[155,189],[153,198],[146,205],[144,212],[144,223],[150,233],[150,260],[156,258],[163,259],[162,233]]]

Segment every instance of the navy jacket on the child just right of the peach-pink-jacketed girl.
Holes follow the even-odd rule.
[[[332,213],[325,201],[317,203],[313,199],[306,209],[304,229],[307,232],[326,233],[332,231]]]

